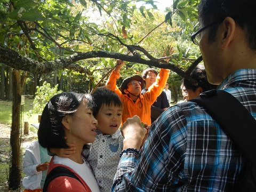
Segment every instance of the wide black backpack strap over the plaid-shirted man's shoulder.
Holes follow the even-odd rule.
[[[233,95],[222,90],[211,90],[189,101],[204,107],[221,126],[221,129],[242,150],[244,156],[256,165],[256,121]]]

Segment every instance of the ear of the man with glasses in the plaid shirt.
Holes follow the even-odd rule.
[[[221,48],[226,49],[235,37],[236,22],[233,18],[227,17],[222,22]]]

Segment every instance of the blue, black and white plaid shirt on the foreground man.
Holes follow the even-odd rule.
[[[255,80],[256,69],[240,69],[218,89],[233,94],[255,118]],[[139,156],[122,155],[111,191],[232,191],[246,163],[204,108],[184,102],[151,125]]]

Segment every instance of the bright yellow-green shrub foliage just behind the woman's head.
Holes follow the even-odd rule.
[[[50,83],[44,82],[42,86],[37,86],[36,97],[33,102],[34,109],[33,113],[42,114],[45,105],[47,102],[58,93],[62,91],[58,91],[58,85],[55,85],[51,88]]]

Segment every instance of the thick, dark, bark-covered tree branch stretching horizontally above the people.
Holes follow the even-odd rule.
[[[87,69],[74,64],[77,61],[90,59],[90,58],[113,58],[113,59],[121,59],[124,61],[141,63],[148,66],[154,66],[157,68],[170,69],[180,75],[181,77],[188,77],[191,73],[191,69],[189,71],[184,71],[179,68],[177,65],[172,63],[160,63],[157,61],[146,60],[142,58],[138,58],[132,55],[126,55],[121,53],[113,53],[106,51],[91,51],[84,53],[77,53],[74,55],[70,55],[66,58],[56,59],[54,61],[45,61],[38,62],[33,59],[23,57],[18,52],[9,49],[8,47],[0,44],[0,62],[4,63],[4,65],[15,68],[30,71],[31,73],[43,74],[43,73],[51,73],[51,71],[56,69],[72,69],[75,71],[79,71],[80,73],[88,74],[89,71]],[[193,67],[202,61],[202,57],[198,58],[193,64]]]

